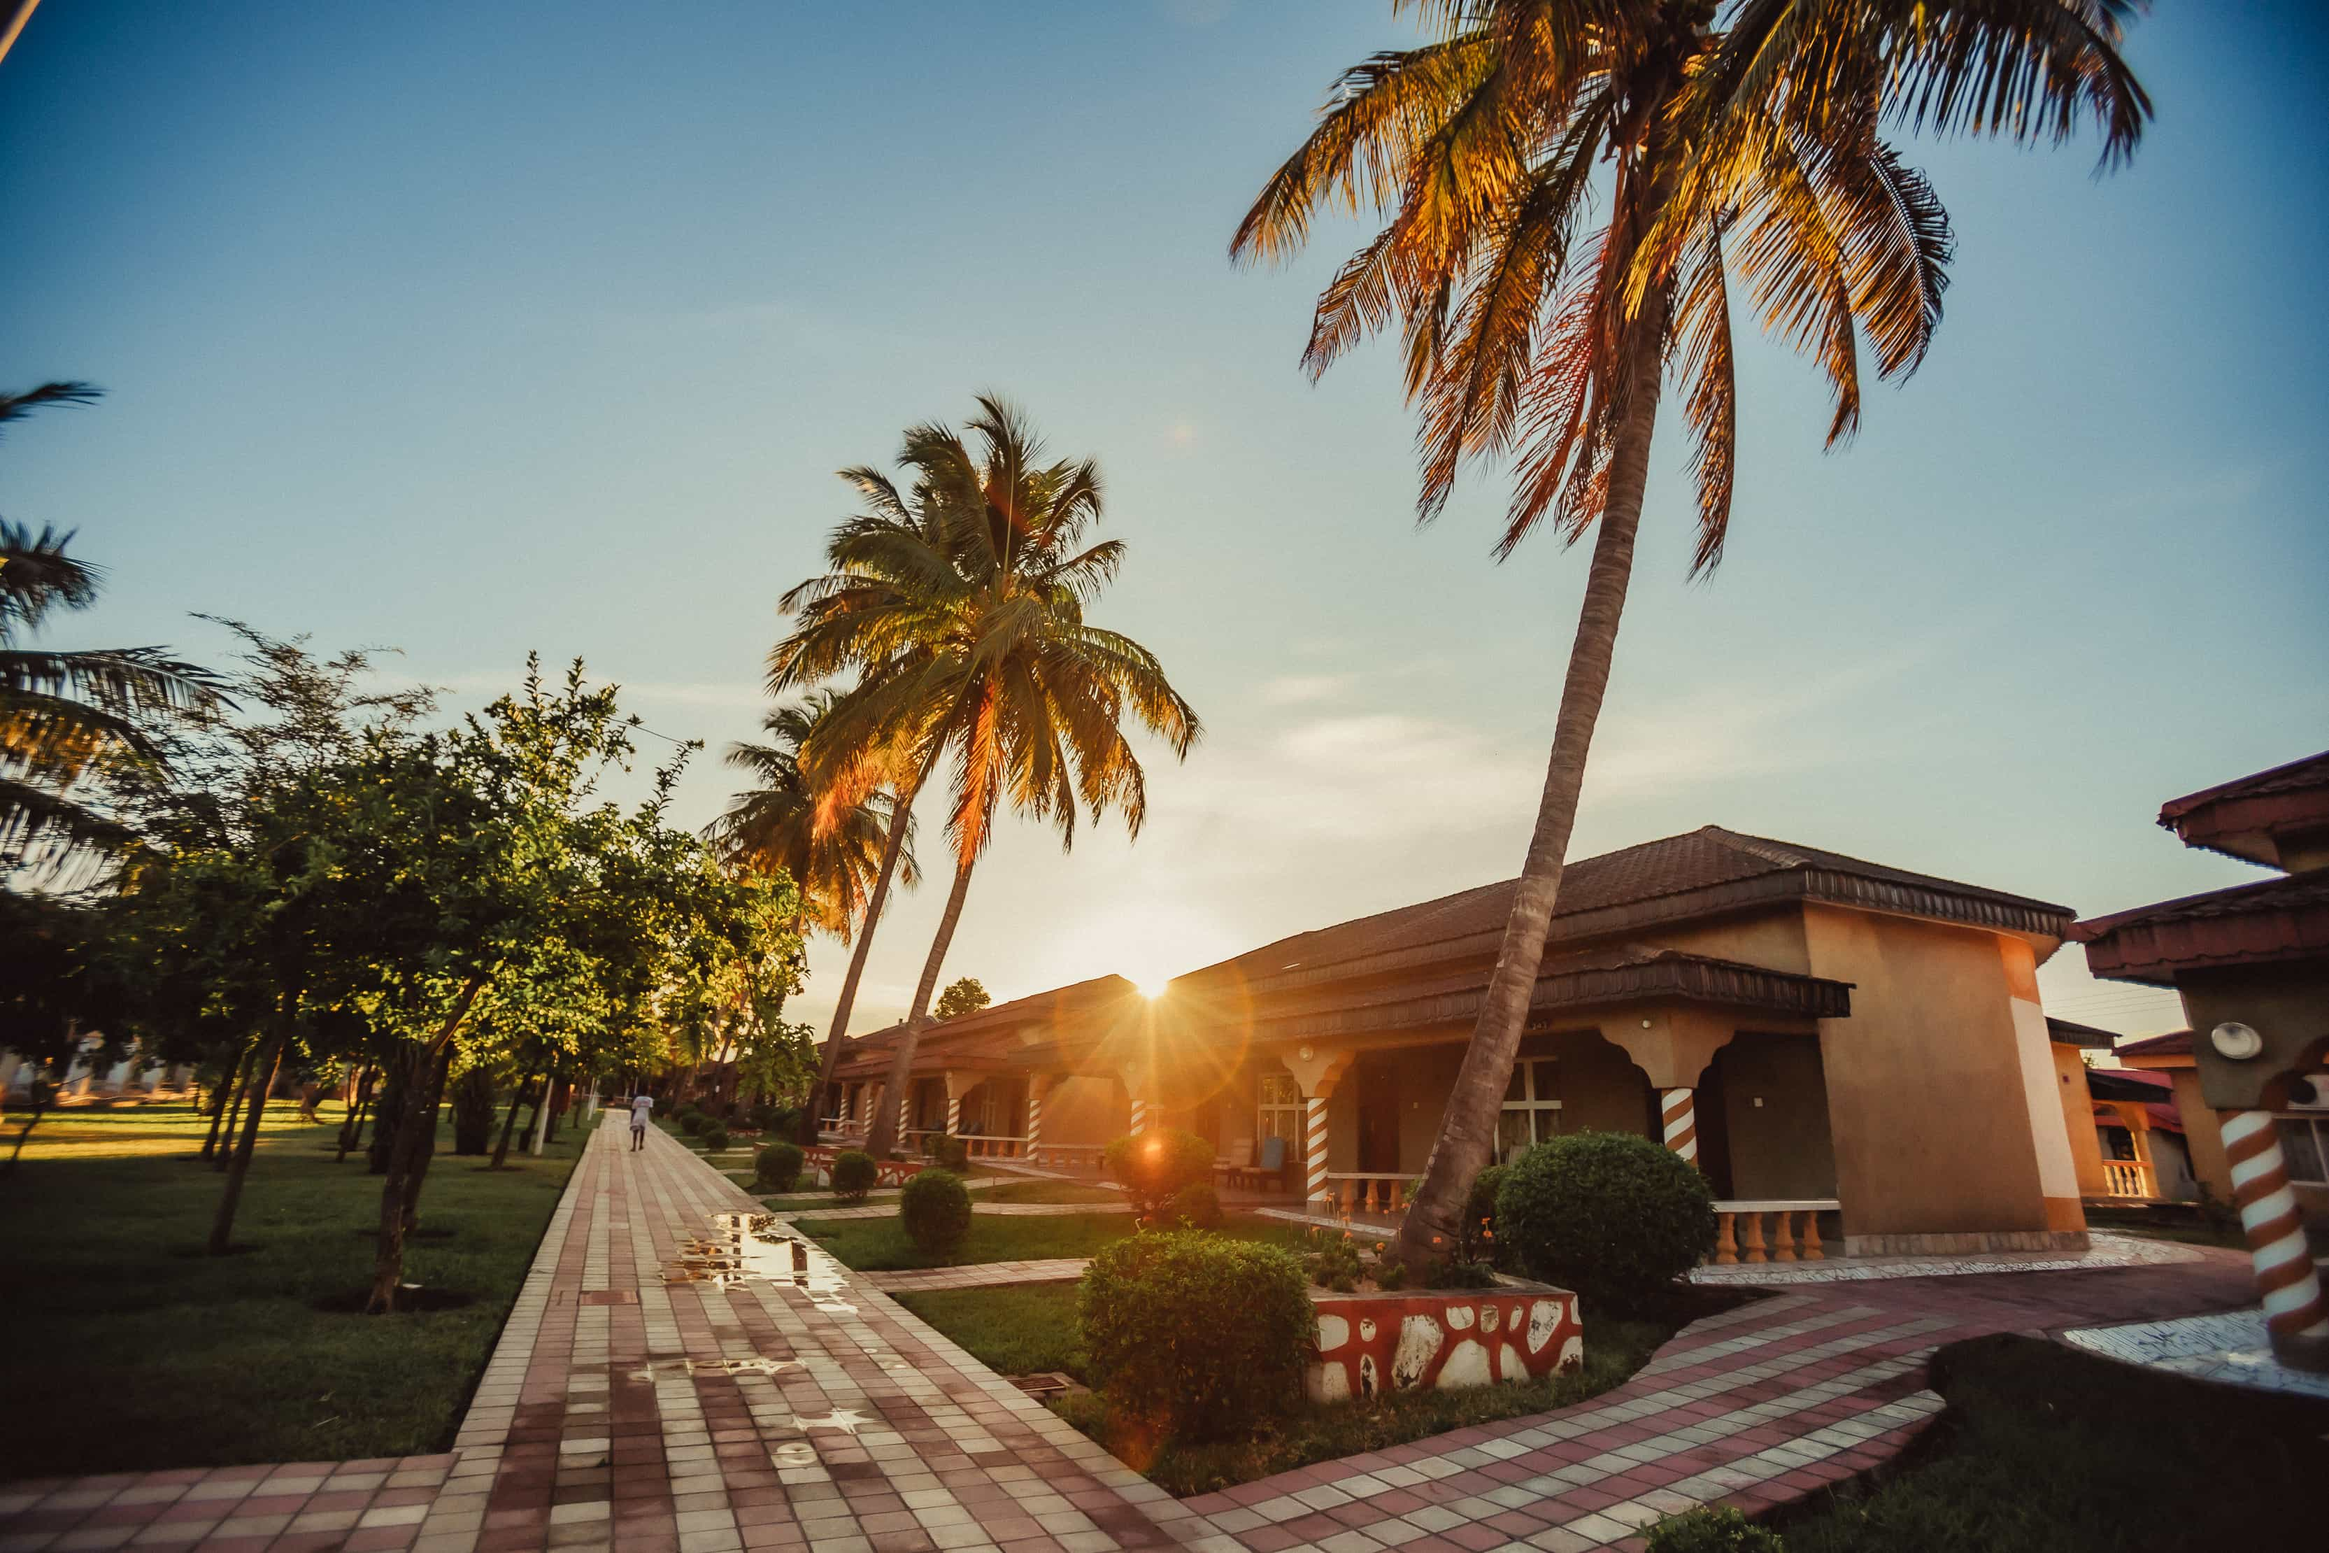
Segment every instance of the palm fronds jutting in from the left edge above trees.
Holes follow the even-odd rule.
[[[0,393],[0,426],[98,389],[44,382]],[[107,761],[158,761],[151,722],[219,701],[217,680],[163,647],[44,652],[19,643],[49,610],[95,603],[102,573],[68,554],[70,533],[0,519],[0,873],[44,873],[119,852],[133,834],[75,794]]]

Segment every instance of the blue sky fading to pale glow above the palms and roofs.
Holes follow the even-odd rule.
[[[1099,461],[1095,619],[1206,731],[1148,747],[1137,841],[1006,827],[946,980],[1155,983],[1507,878],[1584,552],[1493,563],[1493,468],[1414,524],[1390,347],[1302,375],[1372,228],[1227,261],[1335,75],[1411,37],[1374,0],[51,0],[0,63],[0,382],[107,393],[12,428],[0,512],[107,589],[49,640],[219,661],[191,615],[228,615],[396,647],[449,708],[582,657],[706,740],[701,824],[834,470],[994,389]],[[1847,447],[1742,328],[1705,582],[1668,428],[1572,857],[1726,824],[2080,915],[2259,875],[2154,815],[2329,745],[2329,21],[2166,5],[2129,58],[2157,123],[2112,177],[2091,137],[1912,142],[1947,314]],[[883,920],[857,1031],[941,903]],[[813,945],[799,1017],[843,964]],[[2075,945],[2040,985],[2180,1024]]]

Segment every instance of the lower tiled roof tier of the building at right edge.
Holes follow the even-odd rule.
[[[2175,971],[2329,955],[2329,868],[2077,922],[2096,976],[2173,983]]]

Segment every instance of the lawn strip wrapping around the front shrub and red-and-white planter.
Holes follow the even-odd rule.
[[[969,1348],[987,1369],[1008,1376],[1064,1369],[1078,1381],[1090,1381],[1083,1332],[1076,1322],[1074,1283],[943,1290],[899,1295],[897,1302]],[[1381,1451],[1425,1434],[1584,1402],[1623,1383],[1672,1334],[1675,1322],[1588,1318],[1586,1362],[1577,1374],[1549,1376],[1528,1385],[1395,1392],[1369,1402],[1302,1406],[1290,1418],[1265,1420],[1253,1439],[1218,1446],[1174,1444],[1162,1453],[1151,1453],[1139,1439],[1111,1434],[1097,1397],[1062,1399],[1057,1411],[1123,1460],[1141,1467],[1164,1490],[1199,1495],[1337,1455]]]

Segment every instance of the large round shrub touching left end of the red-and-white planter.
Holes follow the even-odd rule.
[[[1109,1406],[1141,1425],[1223,1439],[1302,1402],[1318,1318],[1276,1246],[1134,1234],[1092,1257],[1078,1311]]]

